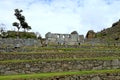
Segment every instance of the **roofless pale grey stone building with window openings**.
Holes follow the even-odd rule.
[[[80,45],[84,42],[84,36],[74,32],[71,34],[48,32],[45,37],[48,45]]]

